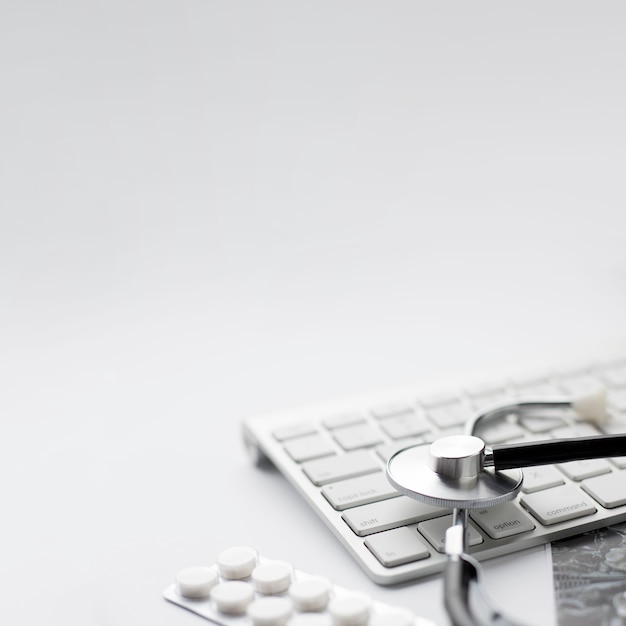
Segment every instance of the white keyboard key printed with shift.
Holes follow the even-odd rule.
[[[414,524],[447,513],[444,509],[418,502],[406,496],[399,496],[349,509],[343,519],[359,535],[365,537],[398,526]]]

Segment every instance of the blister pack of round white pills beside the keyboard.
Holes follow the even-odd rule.
[[[435,626],[249,546],[224,550],[213,565],[183,569],[163,595],[220,626]]]

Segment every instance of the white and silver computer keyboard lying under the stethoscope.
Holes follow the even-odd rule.
[[[397,493],[385,464],[397,449],[461,433],[481,407],[526,396],[607,390],[604,423],[570,413],[510,415],[477,433],[488,444],[626,432],[626,348],[531,374],[476,377],[449,388],[416,386],[244,422],[244,439],[269,459],[379,584],[441,571],[450,511]],[[471,513],[469,552],[479,560],[626,520],[625,456],[524,470],[522,492]]]

